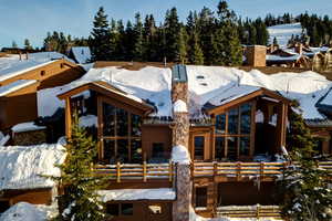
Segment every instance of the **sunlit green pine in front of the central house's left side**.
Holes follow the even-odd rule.
[[[89,221],[104,220],[104,207],[96,191],[104,186],[104,180],[94,176],[92,162],[96,157],[96,144],[91,136],[79,126],[75,117],[72,137],[65,147],[66,160],[56,165],[61,177],[53,177],[64,189],[59,199],[64,211],[56,220]]]

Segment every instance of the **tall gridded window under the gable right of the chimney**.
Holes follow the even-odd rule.
[[[215,159],[250,155],[251,108],[247,103],[216,116]]]

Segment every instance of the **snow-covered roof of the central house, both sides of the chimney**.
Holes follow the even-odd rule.
[[[187,65],[188,112],[190,117],[203,115],[206,104],[220,106],[250,93],[266,88],[288,99],[298,99],[304,118],[325,118],[315,104],[332,82],[314,72],[263,74],[234,67]],[[39,116],[51,116],[64,103],[56,95],[86,83],[101,81],[118,88],[131,98],[148,101],[157,108],[156,116],[172,116],[172,70],[147,66],[139,71],[117,67],[92,69],[83,77],[61,87],[38,92]],[[326,97],[328,99],[328,97]],[[332,101],[331,101],[332,102]]]

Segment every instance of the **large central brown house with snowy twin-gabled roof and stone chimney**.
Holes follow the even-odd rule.
[[[74,113],[96,137],[95,171],[111,180],[100,193],[114,220],[187,220],[191,206],[216,217],[224,206],[276,203],[292,99],[331,154],[331,86],[313,72],[108,66],[38,99],[43,116],[65,107],[68,137]]]

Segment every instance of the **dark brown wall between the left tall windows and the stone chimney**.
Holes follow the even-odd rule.
[[[146,157],[151,158],[154,143],[163,143],[165,151],[172,151],[172,129],[168,125],[143,125],[142,146]],[[167,157],[167,156],[166,156]],[[168,156],[169,157],[169,156]]]

